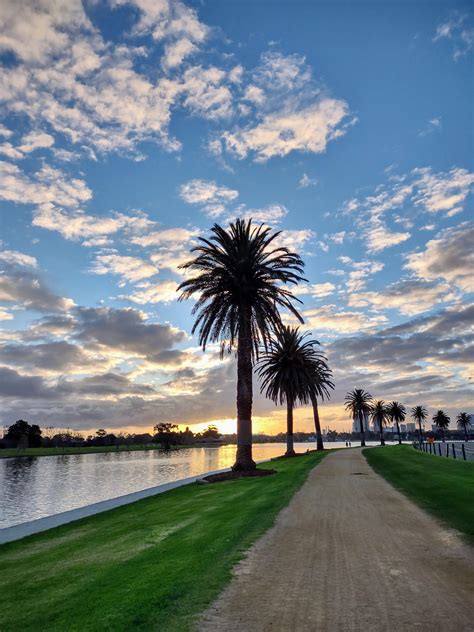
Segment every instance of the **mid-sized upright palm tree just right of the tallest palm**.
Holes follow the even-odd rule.
[[[305,347],[309,342],[298,328],[282,327],[275,332],[269,349],[263,354],[258,375],[262,380],[260,392],[275,402],[286,404],[286,456],[294,456],[293,409],[298,402],[306,404],[311,388],[311,373],[305,362]]]

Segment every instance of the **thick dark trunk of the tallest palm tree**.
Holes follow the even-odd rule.
[[[232,466],[236,470],[254,470],[252,459],[252,338],[250,310],[243,314],[237,347],[237,454]]]

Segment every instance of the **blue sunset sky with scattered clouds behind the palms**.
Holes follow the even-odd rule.
[[[473,52],[468,2],[0,0],[0,424],[235,431],[176,288],[237,217],[306,263],[324,426],[474,411]]]

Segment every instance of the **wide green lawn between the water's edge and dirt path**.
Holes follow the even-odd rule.
[[[273,476],[189,485],[1,545],[0,630],[190,629],[324,455],[275,461]]]

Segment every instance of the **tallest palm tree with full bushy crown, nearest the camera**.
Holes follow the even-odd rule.
[[[198,296],[192,332],[199,344],[221,342],[221,355],[237,349],[237,456],[234,470],[255,469],[252,459],[252,373],[260,344],[268,346],[271,332],[281,325],[279,307],[302,318],[287,289],[305,279],[304,263],[287,248],[274,247],[279,232],[252,220],[238,219],[225,229],[214,224],[211,237],[199,238],[196,257],[183,268],[196,273],[178,287],[179,300]],[[301,302],[301,301],[299,301]]]

